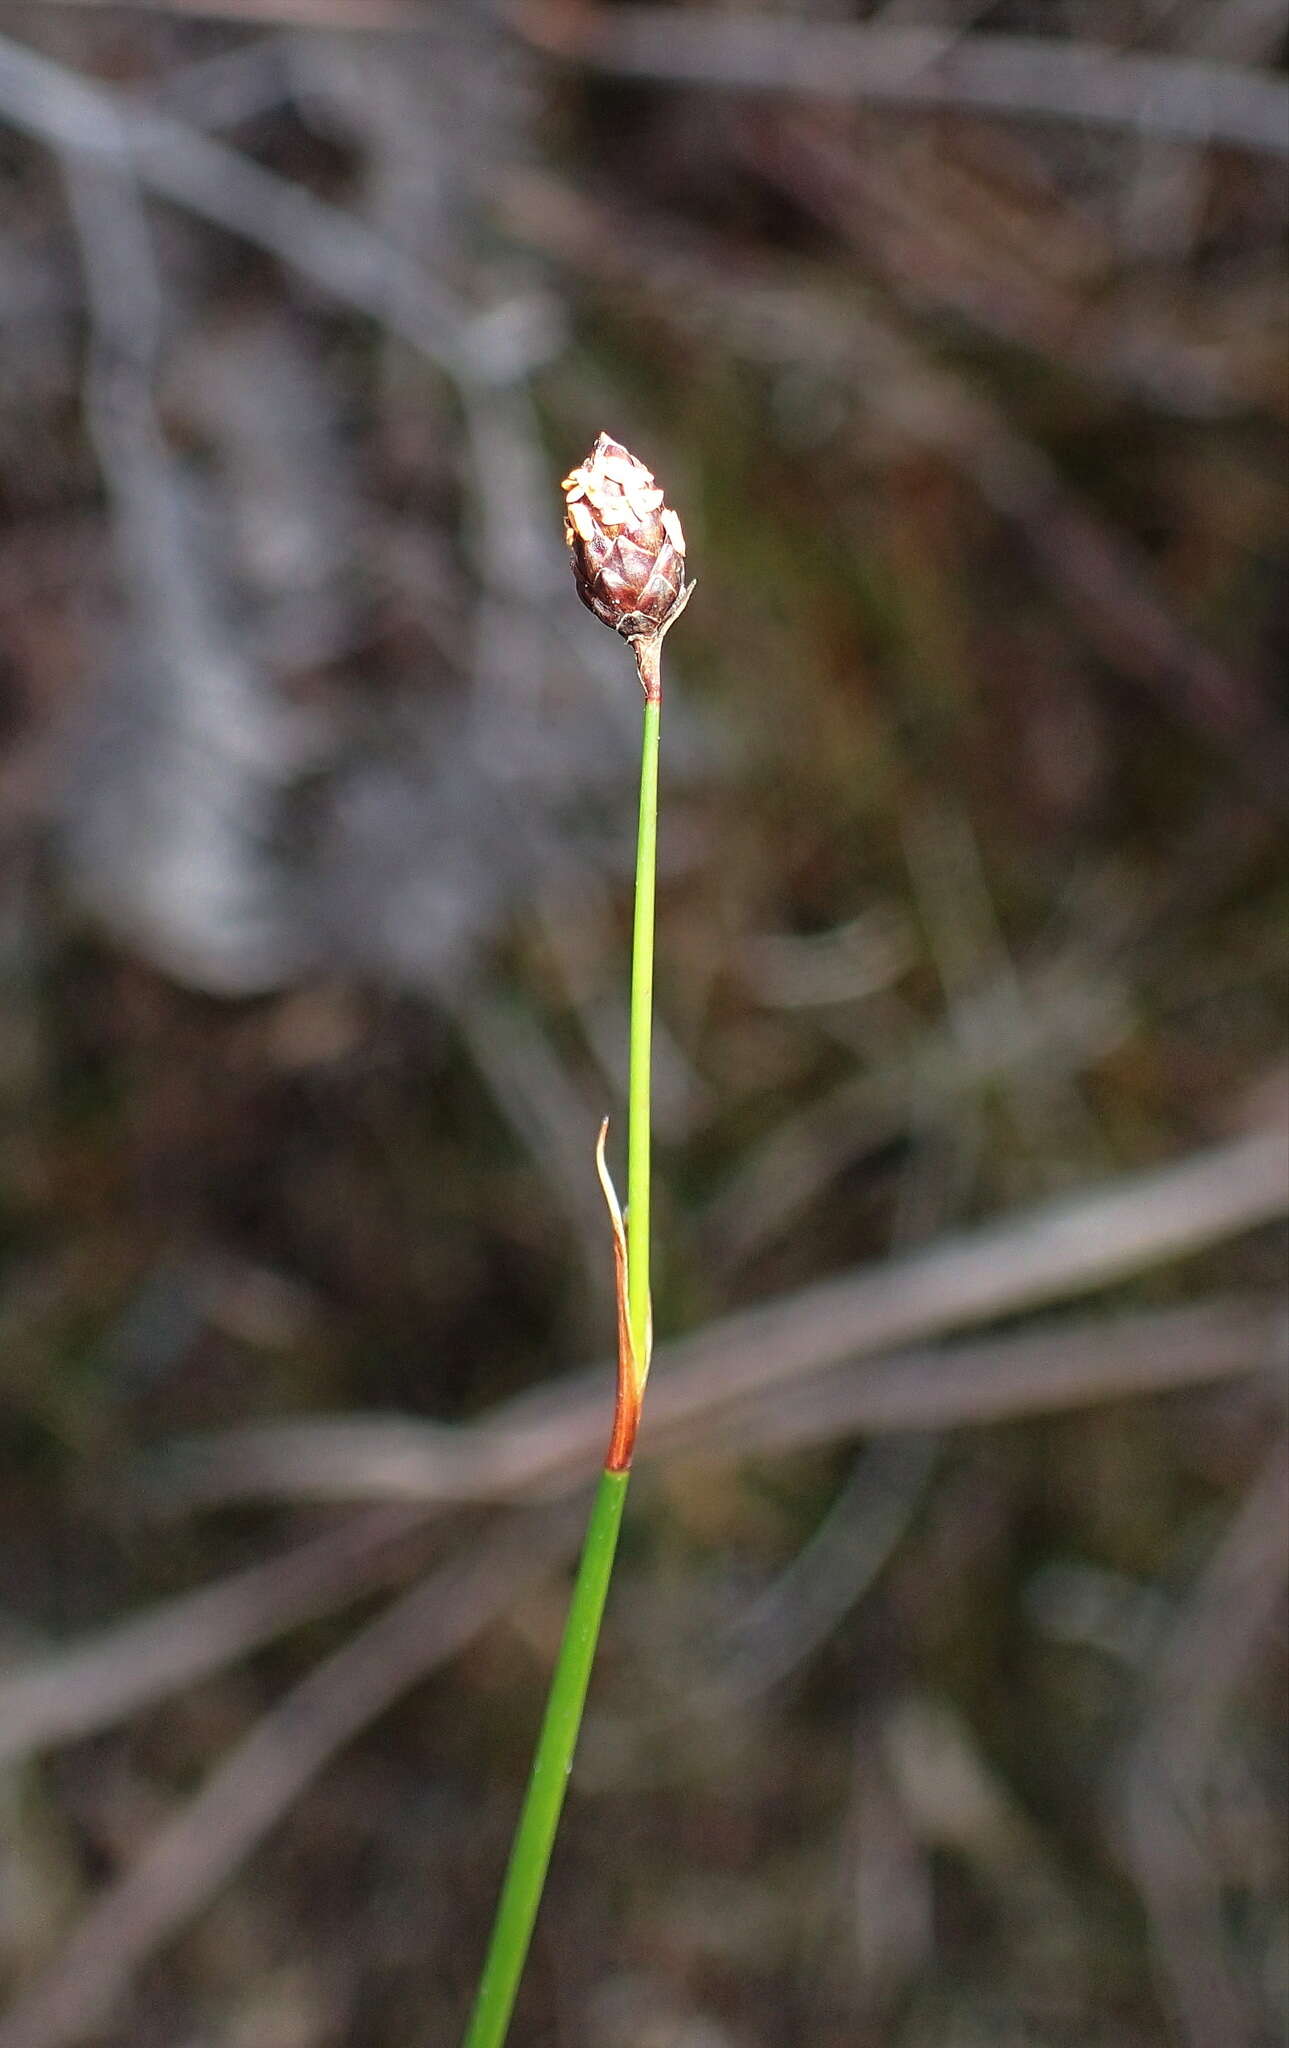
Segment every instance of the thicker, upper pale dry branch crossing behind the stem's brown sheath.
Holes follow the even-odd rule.
[[[648,1446],[658,1448],[668,1436],[693,1440],[697,1417],[711,1432],[721,1411],[787,1384],[799,1401],[801,1380],[828,1366],[1094,1294],[1287,1210],[1285,1141],[1279,1133],[1262,1133],[725,1317],[658,1354]],[[902,1378],[900,1364],[887,1370],[896,1382]],[[947,1425],[973,1415],[975,1380],[959,1382],[953,1407],[947,1393],[937,1393],[949,1382],[934,1360],[922,1358],[906,1370],[906,1389],[887,1384],[875,1419],[861,1417],[857,1427]],[[1072,1405],[1080,1370],[1096,1389],[1092,1399],[1107,1397],[1092,1348],[1051,1405]],[[1182,1382],[1205,1376],[1195,1364],[1178,1372]],[[1158,1374],[1154,1384],[1168,1384],[1166,1352],[1160,1352]],[[1131,1376],[1141,1382],[1139,1346]],[[506,1403],[469,1430],[363,1417],[234,1430],[174,1446],[152,1487],[170,1507],[258,1497],[459,1503],[525,1495],[568,1485],[594,1456],[602,1384],[600,1366],[570,1374]],[[1041,1384],[1031,1395],[1033,1407],[1043,1405]],[[1004,1399],[1027,1405],[1014,1382]]]

